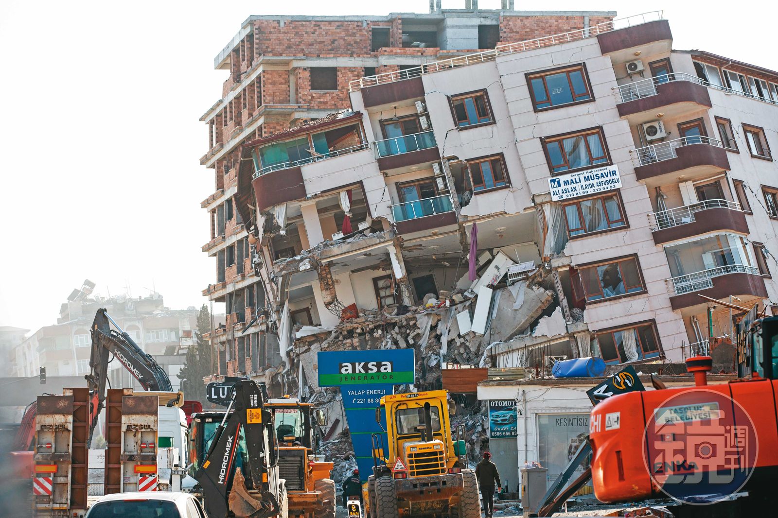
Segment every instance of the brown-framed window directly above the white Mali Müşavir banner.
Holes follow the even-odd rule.
[[[601,128],[543,138],[541,142],[552,174],[581,170],[611,161]]]

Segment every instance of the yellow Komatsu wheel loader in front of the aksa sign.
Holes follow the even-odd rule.
[[[464,427],[452,439],[447,390],[381,398],[387,449],[373,435],[373,474],[367,509],[373,518],[457,516],[480,518],[478,479],[468,468]]]

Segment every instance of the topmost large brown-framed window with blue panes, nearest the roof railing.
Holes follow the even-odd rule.
[[[527,74],[527,86],[535,111],[594,100],[583,64]]]

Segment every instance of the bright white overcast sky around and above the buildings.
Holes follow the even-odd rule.
[[[480,0],[498,9],[499,0]],[[662,5],[664,3],[664,5]],[[677,49],[778,69],[778,3],[562,0],[517,9],[665,9]],[[214,191],[201,114],[213,58],[251,14],[428,12],[428,0],[0,2],[0,325],[36,330],[84,278],[96,292],[200,306]],[[444,0],[444,9],[464,0]]]

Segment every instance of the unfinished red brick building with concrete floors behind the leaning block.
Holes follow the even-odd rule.
[[[250,375],[282,390],[286,368],[276,322],[279,299],[265,296],[254,244],[236,210],[242,145],[268,138],[335,110],[349,108],[349,82],[363,76],[413,69],[499,44],[596,26],[614,12],[522,12],[503,9],[440,9],[387,16],[250,16],[215,59],[228,70],[222,97],[202,115],[209,127],[208,152],[200,163],[214,170],[215,190],[201,206],[211,215],[210,240],[202,251],[216,257],[216,279],[203,293],[226,303],[226,327],[210,337],[219,352],[221,376]],[[251,176],[240,192],[250,190]],[[247,200],[243,200],[245,205]],[[251,241],[250,241],[251,240]],[[289,253],[292,253],[289,250]],[[265,279],[267,280],[267,279]],[[303,317],[299,317],[303,318]],[[275,382],[275,383],[274,383]]]

